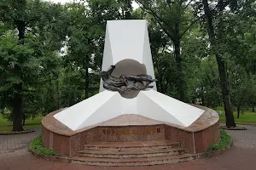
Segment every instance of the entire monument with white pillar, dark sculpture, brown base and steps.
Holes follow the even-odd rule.
[[[43,144],[70,161],[189,161],[219,141],[218,114],[157,92],[146,20],[109,20],[100,93],[45,116]],[[140,158],[140,159],[137,159]]]

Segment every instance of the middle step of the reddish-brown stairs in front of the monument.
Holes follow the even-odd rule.
[[[97,158],[141,158],[156,156],[173,156],[184,154],[187,151],[183,148],[167,148],[158,150],[80,150],[79,156]]]

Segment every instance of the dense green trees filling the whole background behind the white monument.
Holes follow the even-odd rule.
[[[133,8],[137,3],[139,8]],[[184,102],[255,111],[253,0],[0,0],[0,109],[26,119],[98,93],[107,20],[147,20],[157,88]]]

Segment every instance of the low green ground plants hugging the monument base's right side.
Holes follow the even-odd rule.
[[[212,144],[207,151],[212,150],[224,150],[227,146],[229,146],[231,141],[230,135],[226,133],[224,130],[220,130],[220,142],[218,144]]]

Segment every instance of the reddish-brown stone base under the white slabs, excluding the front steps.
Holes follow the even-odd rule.
[[[201,107],[201,109],[204,109],[205,112],[189,127],[179,127],[165,122],[155,122],[154,124],[152,120],[149,120],[151,122],[148,125],[143,123],[143,125],[110,126],[111,122],[117,122],[116,119],[119,117],[108,123],[87,127],[79,131],[72,131],[58,122],[54,115],[61,110],[54,111],[42,120],[43,145],[46,148],[54,149],[61,156],[72,157],[76,156],[79,150],[83,150],[84,144],[166,139],[180,142],[189,153],[197,154],[204,152],[211,144],[219,141],[218,114],[205,107]],[[144,118],[144,122],[149,122],[148,118]]]

